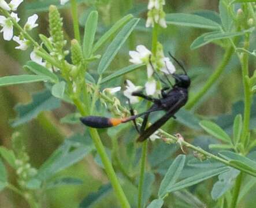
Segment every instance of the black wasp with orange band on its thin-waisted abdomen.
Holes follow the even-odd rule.
[[[188,77],[187,72],[185,71],[183,65],[181,65],[181,63],[177,61],[176,58],[172,56],[172,54],[169,53],[169,55],[170,57],[173,58],[173,60],[177,62],[177,64],[184,71],[184,74],[181,74],[181,75],[178,75],[176,73],[172,74],[173,78],[175,79],[175,84],[172,85],[172,83],[169,81],[168,77],[166,76],[166,79],[168,80],[168,83],[170,86],[162,88],[161,98],[159,99],[151,98],[150,96],[144,95],[141,91],[132,93],[133,96],[139,96],[141,98],[146,99],[147,101],[153,102],[153,105],[150,107],[149,110],[147,110],[146,112],[134,115],[133,110],[131,109],[130,112],[132,116],[127,118],[106,118],[101,116],[81,117],[80,118],[81,122],[83,122],[84,125],[87,125],[88,127],[92,127],[92,128],[107,128],[107,127],[113,127],[128,121],[133,121],[137,131],[140,133],[140,136],[137,139],[138,142],[143,142],[144,140],[149,138],[149,136],[153,135],[153,133],[157,131],[157,129],[159,129],[162,125],[164,125],[165,122],[168,121],[170,117],[175,118],[175,113],[181,107],[183,107],[188,100],[188,87],[190,87],[190,77]],[[157,74],[157,72],[155,73]],[[159,79],[161,78],[159,77]],[[165,83],[164,80],[161,79],[161,81]],[[162,116],[157,121],[155,121],[152,125],[150,125],[149,128],[146,128],[150,113],[157,112],[159,110],[164,110],[166,113],[164,114],[164,116]],[[144,116],[144,118],[143,118],[142,126],[140,127],[140,130],[139,130],[138,125],[136,124],[136,118],[141,116]]]

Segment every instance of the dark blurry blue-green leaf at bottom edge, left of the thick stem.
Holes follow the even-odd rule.
[[[112,190],[111,184],[102,185],[97,192],[93,192],[88,194],[86,198],[80,203],[79,208],[87,208],[94,205],[94,203],[101,200],[104,196],[106,196]]]

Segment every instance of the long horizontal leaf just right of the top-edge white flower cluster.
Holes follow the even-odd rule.
[[[219,30],[221,25],[195,14],[172,13],[166,14],[166,23],[181,26]]]

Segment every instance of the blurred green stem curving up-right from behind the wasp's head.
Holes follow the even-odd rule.
[[[218,66],[218,68],[207,80],[207,82],[205,83],[205,86],[203,86],[203,88],[196,95],[192,96],[192,98],[188,100],[187,105],[185,105],[185,108],[187,110],[192,109],[192,107],[194,107],[195,104],[198,103],[199,99],[201,99],[206,94],[206,92],[213,86],[213,84],[216,83],[216,81],[224,71],[225,67],[227,66],[229,60],[231,59],[232,54],[233,54],[233,48],[229,47],[224,54],[224,58],[221,64]]]

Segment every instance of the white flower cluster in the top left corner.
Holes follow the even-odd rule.
[[[0,15],[0,26],[2,27],[0,32],[3,32],[3,39],[8,41],[13,39],[18,43],[18,46],[16,46],[15,49],[27,50],[30,44],[29,40],[25,39],[23,34],[13,36],[13,22],[18,23],[18,21],[20,21],[18,14],[13,11],[16,11],[22,2],[23,0],[12,0],[10,3],[7,3],[4,0],[0,0],[0,8],[11,12],[10,17]],[[31,29],[37,27],[38,24],[36,24],[36,20],[38,20],[37,14],[33,14],[28,17],[27,23],[24,25],[24,31],[31,31]],[[42,58],[36,55],[34,50],[31,52],[30,58],[32,61],[35,61],[40,65],[46,65],[46,63],[42,61]]]

